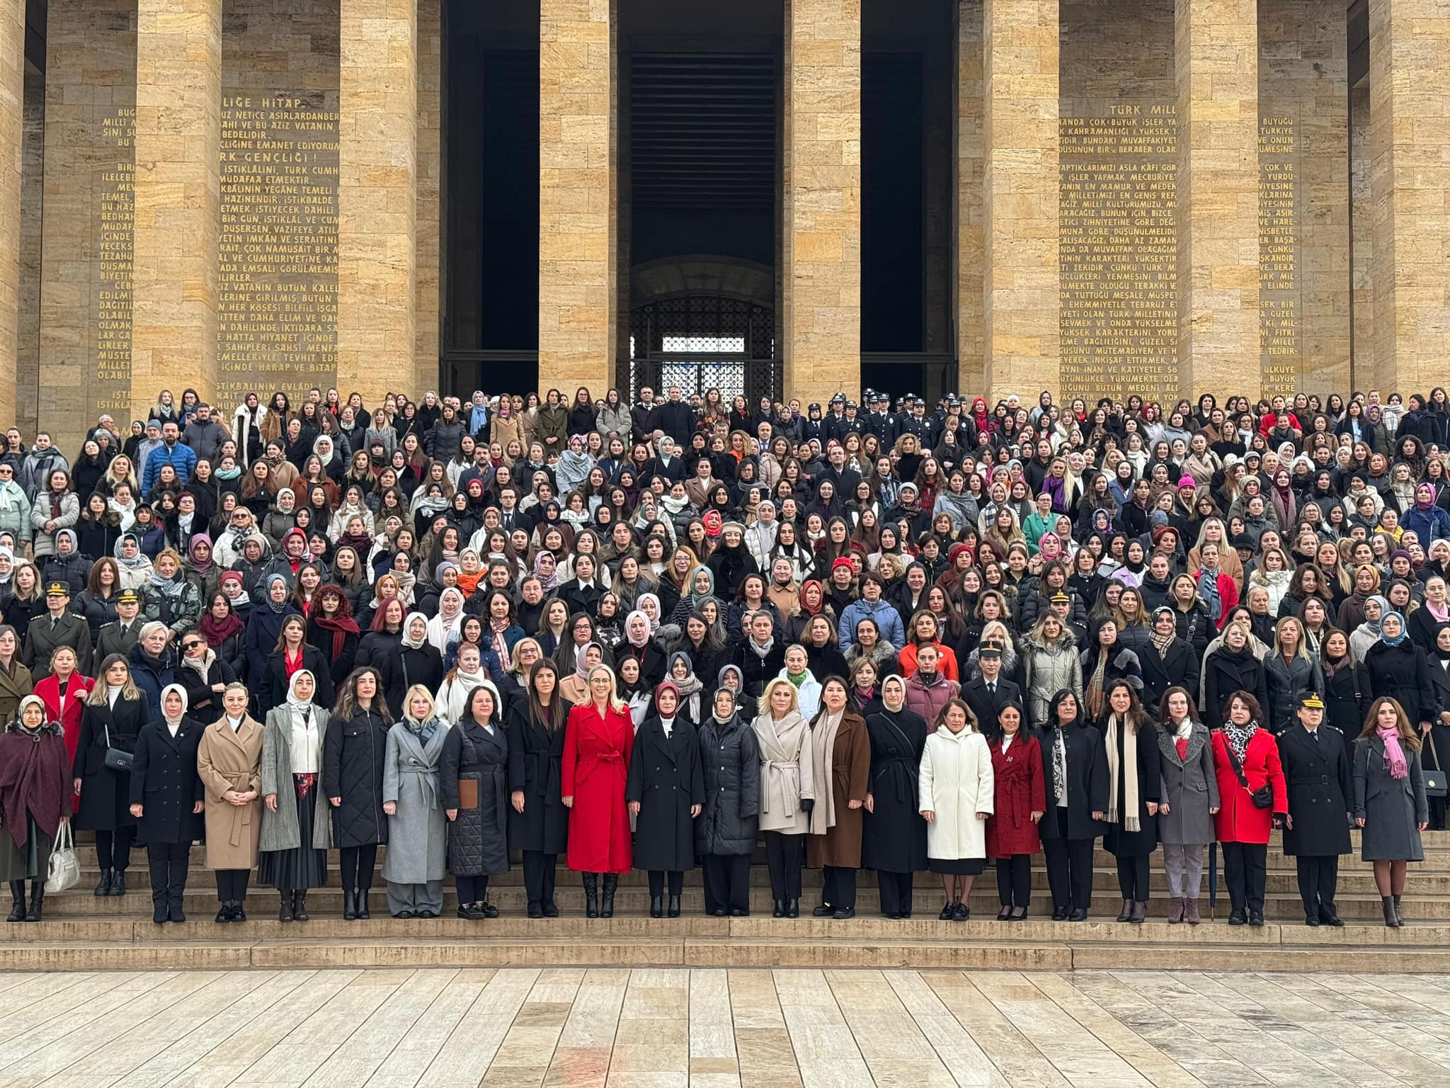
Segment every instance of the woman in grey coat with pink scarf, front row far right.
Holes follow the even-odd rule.
[[[1375,863],[1385,924],[1392,928],[1405,924],[1399,917],[1405,863],[1425,860],[1420,833],[1428,823],[1420,735],[1398,702],[1375,699],[1354,741],[1354,824],[1363,830],[1360,857]]]

